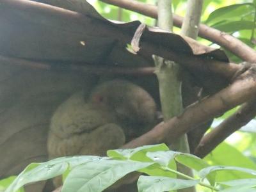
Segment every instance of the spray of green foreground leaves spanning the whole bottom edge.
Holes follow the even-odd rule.
[[[25,184],[51,179],[63,173],[67,174],[67,177],[64,180],[62,191],[97,192],[103,191],[127,173],[134,171],[148,174],[148,176],[141,175],[138,179],[139,191],[170,191],[189,188],[197,184],[213,191],[219,191],[219,189],[223,189],[223,191],[236,191],[237,189],[239,191],[253,191],[256,186],[256,169],[237,166],[211,166],[191,154],[168,150],[168,147],[164,144],[148,145],[134,149],[109,150],[108,156],[60,157],[45,163],[29,164],[13,180],[6,192],[15,192]],[[173,163],[184,164],[192,168],[198,173],[198,176],[193,178],[177,172],[176,166],[173,168]],[[152,172],[152,168],[159,175],[156,176],[156,173]],[[226,182],[215,179],[216,173],[228,173],[230,171],[246,173],[251,178],[244,179],[241,178],[241,175],[234,175],[232,179]],[[179,176],[179,179],[176,178],[177,176]],[[208,182],[205,182],[207,180]],[[3,182],[0,182],[0,186]]]

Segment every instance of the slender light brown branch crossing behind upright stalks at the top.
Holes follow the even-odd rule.
[[[127,10],[132,10],[134,12],[141,13],[148,17],[157,19],[157,7],[151,4],[140,3],[134,0],[100,0],[105,3],[120,6]],[[173,24],[177,27],[181,27],[183,22],[183,17],[179,15],[173,15]],[[232,35],[228,35],[218,29],[211,28],[205,24],[200,24],[198,35],[202,38],[206,38],[211,42],[215,42],[221,47],[224,47],[228,51],[239,56],[244,61],[256,62],[256,52],[244,44]]]

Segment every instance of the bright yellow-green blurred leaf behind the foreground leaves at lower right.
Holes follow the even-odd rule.
[[[227,143],[221,143],[204,160],[211,164],[211,166],[238,166],[256,170],[256,164],[251,159]],[[248,173],[233,171],[216,173],[216,182],[246,178],[253,178],[253,176]]]

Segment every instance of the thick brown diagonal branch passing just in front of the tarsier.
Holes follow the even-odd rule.
[[[192,127],[232,109],[239,104],[252,100],[256,95],[256,67],[244,72],[239,79],[221,92],[207,97],[185,109],[180,116],[158,124],[151,131],[125,144],[123,148],[134,148],[153,143],[173,143],[179,136]]]

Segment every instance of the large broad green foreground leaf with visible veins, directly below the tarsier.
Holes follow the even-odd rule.
[[[138,161],[100,160],[76,166],[68,174],[63,192],[97,192],[103,191],[127,173],[140,170],[152,163]]]

